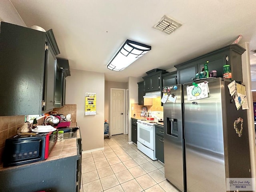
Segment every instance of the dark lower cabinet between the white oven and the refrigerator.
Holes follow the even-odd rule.
[[[164,163],[164,126],[155,124],[156,158]]]

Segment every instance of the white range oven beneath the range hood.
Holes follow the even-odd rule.
[[[155,121],[140,119],[137,121],[137,148],[152,160],[156,160]]]

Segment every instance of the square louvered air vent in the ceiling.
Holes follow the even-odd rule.
[[[164,15],[157,24],[154,25],[154,28],[160,30],[164,33],[171,34],[177,30],[182,24],[174,21],[172,18]]]

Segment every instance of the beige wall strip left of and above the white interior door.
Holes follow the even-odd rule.
[[[105,110],[104,110],[104,119],[108,120],[109,127],[111,127],[110,121],[110,88],[118,89],[128,89],[128,83],[123,82],[114,82],[114,81],[105,81]]]

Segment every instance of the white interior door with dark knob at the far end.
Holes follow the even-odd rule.
[[[123,134],[125,127],[125,89],[111,89],[111,135]]]

